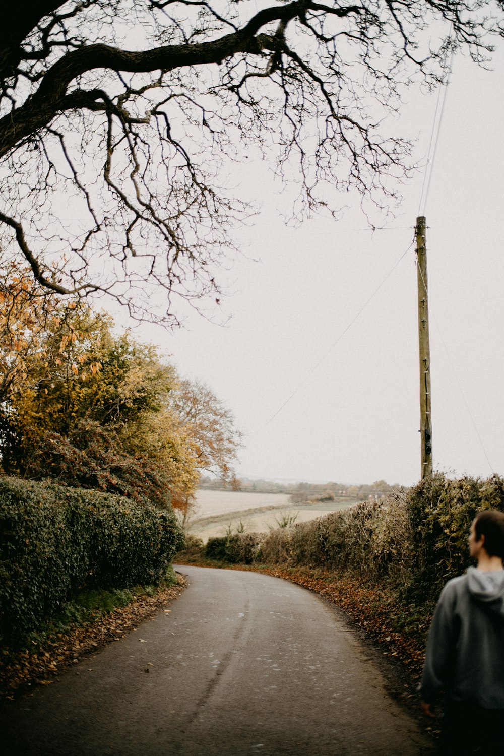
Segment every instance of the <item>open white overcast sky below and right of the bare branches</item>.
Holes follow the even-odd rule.
[[[455,476],[504,473],[502,48],[493,68],[454,61],[423,213],[434,469]],[[436,95],[412,89],[407,97],[398,129],[418,139],[422,160]],[[264,204],[252,227],[239,232],[243,256],[224,275],[233,294],[221,308],[232,318],[221,327],[190,311],[174,333],[138,330],[181,375],[207,383],[233,411],[244,433],[239,475],[418,481],[413,246],[392,269],[413,241],[423,179],[419,172],[403,187],[404,203],[384,231],[366,230],[357,206],[339,222],[317,218],[294,229],[279,212],[289,197],[278,193],[267,166],[248,163],[240,181]]]

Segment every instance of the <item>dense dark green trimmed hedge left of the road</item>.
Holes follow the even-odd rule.
[[[183,544],[171,510],[0,478],[0,639],[22,637],[73,590],[156,584]]]

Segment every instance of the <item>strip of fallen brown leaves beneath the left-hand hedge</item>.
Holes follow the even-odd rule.
[[[0,699],[13,699],[15,693],[26,692],[36,684],[49,685],[64,668],[77,664],[106,643],[119,641],[126,633],[135,630],[168,601],[178,598],[186,585],[185,578],[179,575],[177,585],[159,590],[155,596],[135,596],[128,606],[113,609],[110,614],[100,616],[93,622],[73,627],[64,634],[56,634],[43,643],[31,641],[30,649],[2,649]]]

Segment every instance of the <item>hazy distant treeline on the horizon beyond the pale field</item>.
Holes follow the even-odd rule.
[[[403,488],[398,483],[388,485],[385,480],[377,480],[371,484],[348,485],[346,483],[288,483],[263,479],[240,478],[225,482],[221,478],[202,476],[199,488],[210,488],[215,491],[244,491],[258,494],[291,494],[292,503],[301,503],[331,493],[332,497],[349,497],[356,500],[379,498],[392,489]],[[332,498],[331,497],[331,498]]]

